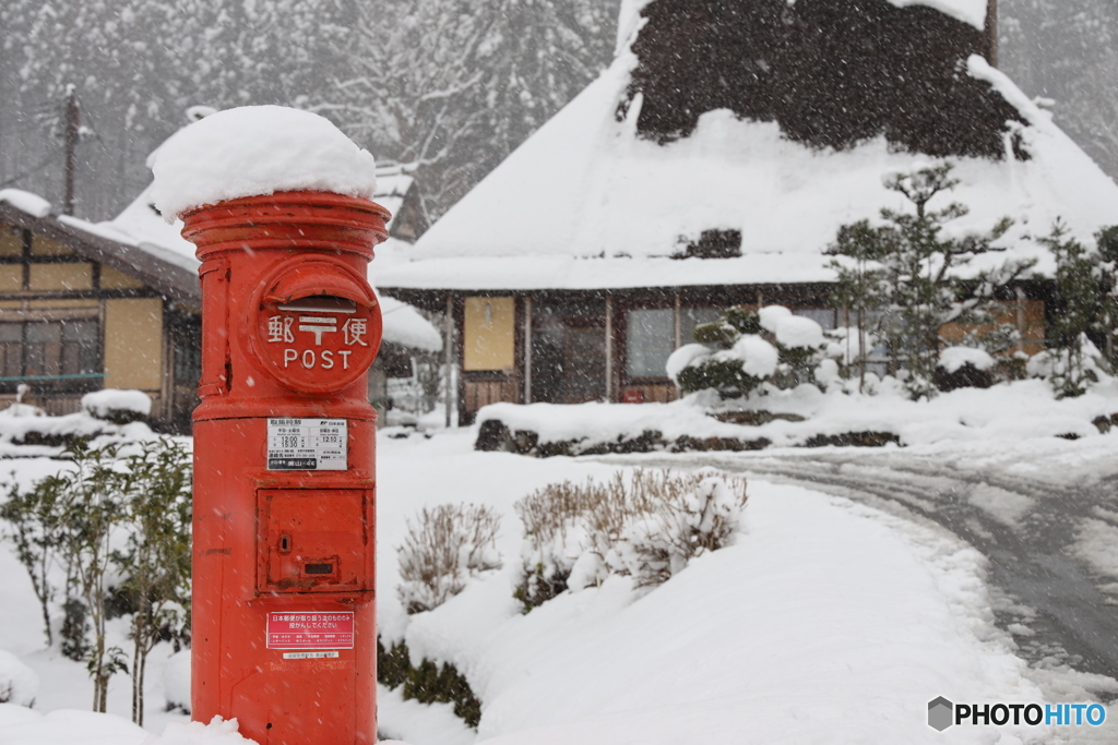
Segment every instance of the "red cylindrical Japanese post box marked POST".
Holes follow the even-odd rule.
[[[182,216],[202,262],[192,716],[262,745],[377,739],[366,270],[388,217],[323,192]]]

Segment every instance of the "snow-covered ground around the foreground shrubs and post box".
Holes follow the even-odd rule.
[[[627,577],[612,577],[522,615],[512,599],[521,542],[513,503],[548,483],[603,478],[628,465],[476,452],[474,436],[456,430],[379,443],[381,632],[405,639],[416,659],[453,662],[483,701],[475,733],[449,705],[405,701],[399,690],[382,688],[385,736],[413,745],[1114,742],[1110,726],[930,728],[927,705],[937,696],[1082,701],[1089,693],[1080,685],[1093,682],[1106,700],[1108,684],[1031,670],[994,624],[984,557],[955,536],[800,487],[751,479],[737,544],[701,556],[655,590],[637,592]],[[922,449],[956,466],[973,451],[1007,471],[1059,451],[1059,464],[1082,471],[1103,462],[1110,450],[1103,446],[1116,438]],[[673,458],[688,465],[686,456]],[[26,483],[56,467],[27,458],[6,460],[0,470]],[[502,515],[504,569],[433,612],[407,617],[395,594],[405,522],[423,506],[458,502]],[[1105,548],[1107,527],[1101,519],[1084,526],[1084,543]],[[1092,553],[1098,561],[1106,561],[1103,548]],[[92,685],[82,666],[42,649],[29,582],[8,546],[0,550],[0,649],[40,681],[34,709],[0,705],[0,743],[144,743],[148,734],[126,720],[126,677],[113,680],[112,715],[82,711]],[[126,643],[123,627],[112,632]],[[157,649],[149,666],[149,733],[187,718],[163,710],[169,655]],[[235,742],[229,733],[207,733],[215,743]],[[162,743],[191,736],[180,728]]]

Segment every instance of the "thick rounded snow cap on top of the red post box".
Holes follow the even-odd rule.
[[[148,161],[163,219],[243,197],[319,191],[372,199],[372,155],[329,120],[284,106],[211,114],[171,136]]]

